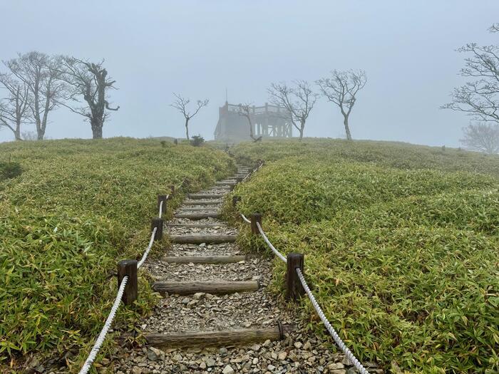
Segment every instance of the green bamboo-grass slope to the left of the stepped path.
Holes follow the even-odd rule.
[[[116,260],[138,259],[147,246],[156,195],[185,178],[197,189],[235,170],[211,148],[127,138],[1,144],[0,162],[9,159],[23,172],[0,181],[4,363],[23,353],[78,353],[110,310]],[[181,199],[169,204],[167,217]],[[115,326],[152,305],[143,276],[139,298],[120,308]]]

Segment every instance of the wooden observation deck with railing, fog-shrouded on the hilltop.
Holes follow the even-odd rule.
[[[229,104],[219,108],[217,128],[215,128],[215,140],[242,141],[251,140],[249,136],[249,123],[244,113],[244,105]],[[292,137],[292,123],[289,120],[289,112],[277,105],[249,107],[249,118],[252,123],[254,137]]]

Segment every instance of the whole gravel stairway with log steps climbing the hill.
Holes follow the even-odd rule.
[[[165,224],[171,248],[144,264],[163,299],[140,326],[147,346],[125,351],[115,373],[346,374],[344,357],[267,290],[272,259],[243,253],[237,229],[220,220],[223,199],[248,172],[238,165],[188,194]]]

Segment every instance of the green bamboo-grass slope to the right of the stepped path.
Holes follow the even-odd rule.
[[[238,209],[261,212],[278,249],[305,254],[314,294],[361,360],[425,373],[499,369],[499,157],[341,140],[231,152],[268,161],[235,190]],[[324,334],[309,301],[301,306]]]

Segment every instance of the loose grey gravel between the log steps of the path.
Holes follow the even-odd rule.
[[[243,171],[243,169],[240,169]],[[231,180],[229,178],[228,180]],[[220,185],[204,193],[220,194],[223,199],[230,189]],[[203,193],[203,192],[200,192]],[[208,200],[208,199],[203,199]],[[193,202],[187,199],[185,202]],[[214,212],[220,204],[182,204],[177,213],[192,212],[190,208],[201,208],[196,212]],[[237,234],[237,229],[228,227],[219,219],[174,218],[168,224],[210,223],[215,227],[167,227],[168,233],[180,234]],[[165,251],[167,256],[221,256],[244,254],[235,243],[225,244],[173,244]],[[161,260],[146,261],[144,267],[153,279],[169,281],[258,281],[258,291],[212,295],[198,293],[190,296],[175,294],[160,299],[152,316],[143,321],[140,329],[144,333],[168,333],[189,331],[221,331],[241,328],[265,328],[283,324],[294,325],[282,341],[264,341],[246,346],[216,348],[170,348],[158,350],[153,347],[123,348],[114,373],[117,374],[163,374],[163,373],[333,373],[353,374],[356,370],[334,348],[319,341],[299,321],[296,313],[267,290],[271,281],[272,261],[262,257],[251,257],[247,261],[232,264],[171,264]],[[370,373],[383,373],[376,365],[365,363]]]

